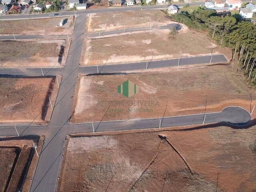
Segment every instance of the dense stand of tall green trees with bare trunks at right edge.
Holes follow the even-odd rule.
[[[230,15],[218,15],[215,10],[198,8],[192,13],[172,16],[178,22],[198,31],[206,31],[219,45],[232,49],[232,60],[238,60],[244,75],[256,85],[256,26],[250,21]]]

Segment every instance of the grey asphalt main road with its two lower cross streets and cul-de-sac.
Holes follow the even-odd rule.
[[[122,8],[120,8],[121,10]],[[102,10],[100,10],[102,11]],[[62,156],[62,148],[65,137],[70,133],[92,132],[92,123],[69,124],[70,111],[72,107],[72,98],[74,94],[76,78],[78,73],[96,73],[96,66],[80,67],[79,60],[82,49],[83,34],[86,24],[86,14],[79,14],[73,39],[70,45],[66,65],[63,68],[44,68],[44,75],[62,75],[58,96],[52,111],[50,123],[46,126],[23,125],[17,126],[20,135],[44,135],[45,141],[40,154],[38,165],[32,181],[30,192],[54,192],[60,160]],[[148,62],[148,69],[209,63],[211,56],[182,58],[164,61]],[[212,63],[226,62],[223,55],[212,56]],[[117,72],[124,70],[145,69],[147,63],[131,63],[98,66],[100,73]],[[0,69],[2,75],[21,75],[21,76],[41,76],[40,68],[19,68],[19,69]],[[107,122],[94,122],[96,132],[128,130],[128,129],[147,129],[147,128],[163,128],[168,126],[185,126],[192,124],[228,122],[234,125],[244,125],[250,122],[250,113],[239,107],[228,107],[217,113],[194,114],[188,116],[136,119],[136,120],[118,120]],[[16,135],[14,126],[0,126],[1,136]]]

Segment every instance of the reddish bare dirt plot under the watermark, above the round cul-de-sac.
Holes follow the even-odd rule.
[[[139,93],[126,98],[117,87],[126,80]],[[226,106],[250,111],[256,94],[246,87],[229,64],[189,68],[165,68],[128,73],[80,75],[70,122],[152,118],[218,112]]]

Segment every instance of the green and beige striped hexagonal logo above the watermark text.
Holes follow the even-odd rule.
[[[117,86],[117,91],[129,98],[139,92],[139,86],[134,84],[134,82],[127,80]]]

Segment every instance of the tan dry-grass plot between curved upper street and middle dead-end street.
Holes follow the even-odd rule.
[[[109,38],[84,39],[81,65],[102,65],[164,60],[172,58],[225,54],[230,51],[221,48],[204,33],[184,29],[174,38],[169,30],[155,30],[126,34]]]

